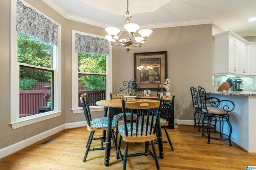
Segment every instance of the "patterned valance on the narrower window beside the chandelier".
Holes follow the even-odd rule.
[[[109,55],[109,42],[104,38],[76,33],[75,52]]]

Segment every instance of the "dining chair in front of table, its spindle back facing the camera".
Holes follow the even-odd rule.
[[[156,149],[154,146],[154,140],[156,139],[156,128],[154,126],[154,120],[149,118],[150,114],[156,115],[156,124],[160,118],[160,109],[162,105],[162,97],[160,101],[150,101],[150,100],[141,100],[138,102],[125,102],[124,96],[122,96],[122,111],[123,111],[123,120],[124,124],[118,127],[118,131],[120,133],[119,143],[118,143],[118,152],[117,159],[121,158],[123,163],[123,170],[126,170],[127,158],[130,156],[142,156],[150,154],[152,158],[155,160],[156,168],[160,170],[160,166],[158,163],[158,158],[156,156]],[[133,122],[133,118],[131,118],[130,123],[127,123],[126,119],[126,109],[132,109],[137,114],[136,122]],[[142,121],[139,123],[138,117],[142,115]],[[144,121],[144,119],[146,121]],[[121,142],[125,142],[125,150],[124,155],[120,150]],[[139,143],[144,142],[144,150],[143,153],[134,153],[128,154],[128,143]],[[149,149],[149,142],[151,142],[152,151]]]

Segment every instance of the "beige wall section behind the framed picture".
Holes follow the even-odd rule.
[[[153,29],[142,47],[113,46],[113,92],[134,78],[133,53],[167,51],[171,93],[176,93],[175,119],[192,120],[190,86],[212,89],[212,24]],[[122,87],[122,86],[121,86]]]

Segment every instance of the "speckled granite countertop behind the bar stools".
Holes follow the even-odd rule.
[[[220,92],[218,90],[206,90],[208,94],[220,94],[220,95],[231,95],[231,96],[256,96],[256,91],[228,91]]]

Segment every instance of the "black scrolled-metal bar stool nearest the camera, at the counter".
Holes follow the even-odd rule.
[[[234,110],[235,108],[235,104],[230,101],[230,100],[219,100],[217,102],[212,102],[215,105],[221,106],[220,103],[224,103],[222,104],[222,108],[221,107],[207,107],[206,105],[206,91],[204,88],[202,87],[198,87],[198,92],[199,92],[199,96],[200,96],[200,103],[201,103],[201,108],[202,108],[202,112],[204,113],[204,119],[202,121],[202,127],[203,127],[203,132],[202,132],[202,137],[207,137],[208,141],[207,143],[210,143],[210,139],[216,139],[216,140],[221,140],[221,141],[229,141],[229,145],[232,146],[231,143],[231,134],[232,134],[232,126],[231,123],[229,121],[229,117],[230,117],[230,112],[232,110]],[[229,106],[228,106],[229,104]],[[220,124],[220,128],[218,129],[218,131],[216,131],[216,123],[215,123],[215,129],[214,131],[211,131],[211,125],[212,125],[212,118],[214,118],[215,122],[218,122]],[[205,135],[205,131],[204,131],[204,121],[207,120],[207,135]],[[229,134],[225,134],[223,133],[223,127],[224,127],[224,122],[227,122],[228,127],[229,127]],[[220,134],[220,138],[216,138],[216,137],[211,137],[211,133],[218,133]],[[225,136],[226,138],[223,139],[223,136]]]

